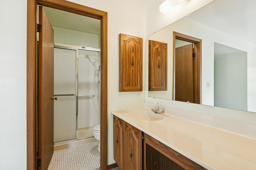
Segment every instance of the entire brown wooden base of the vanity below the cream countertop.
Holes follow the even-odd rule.
[[[113,125],[114,160],[122,170],[206,170],[115,115]]]

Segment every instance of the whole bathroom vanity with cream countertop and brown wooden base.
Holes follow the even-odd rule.
[[[150,109],[112,111],[122,170],[256,168],[256,139]]]

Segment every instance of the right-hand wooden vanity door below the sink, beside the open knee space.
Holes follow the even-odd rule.
[[[124,123],[124,170],[142,169],[142,132]]]

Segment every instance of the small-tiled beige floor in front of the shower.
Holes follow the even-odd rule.
[[[48,170],[96,170],[100,167],[98,144],[54,151]]]

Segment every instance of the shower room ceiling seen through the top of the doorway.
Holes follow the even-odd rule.
[[[100,35],[100,20],[70,12],[43,7],[53,27]]]

